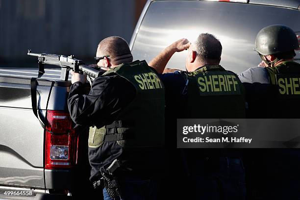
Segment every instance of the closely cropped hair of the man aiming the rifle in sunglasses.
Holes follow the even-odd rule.
[[[97,56],[109,55],[110,62],[121,64],[123,61],[132,62],[132,54],[128,43],[118,36],[107,37],[98,45]]]

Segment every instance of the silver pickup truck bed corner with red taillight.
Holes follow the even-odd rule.
[[[0,199],[76,199],[80,192],[89,197],[88,133],[73,129],[71,81],[61,80],[60,69],[45,69],[37,80],[45,130],[32,112],[30,78],[37,75],[33,68],[0,69]]]

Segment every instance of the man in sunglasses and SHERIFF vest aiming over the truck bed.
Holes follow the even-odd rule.
[[[146,61],[132,62],[128,44],[121,37],[103,39],[95,59],[102,75],[94,80],[90,93],[84,95],[86,76],[73,73],[68,98],[73,121],[91,126],[90,179],[99,180],[103,177],[101,171],[113,180],[105,184],[104,200],[120,198],[119,192],[123,200],[155,199],[155,177],[164,166],[160,161],[164,85]],[[110,175],[106,170],[115,159],[117,169]],[[119,192],[114,191],[115,178]]]

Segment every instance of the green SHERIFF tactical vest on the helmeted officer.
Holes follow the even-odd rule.
[[[274,94],[268,102],[273,118],[300,118],[300,64],[285,61],[265,68]],[[272,99],[271,99],[272,98]]]

